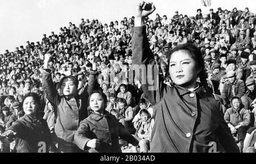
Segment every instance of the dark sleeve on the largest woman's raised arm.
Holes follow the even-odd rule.
[[[139,75],[141,88],[146,94],[148,100],[150,100],[150,102],[152,103],[152,105],[155,105],[162,99],[163,95],[167,92],[167,86],[166,84],[163,84],[163,79],[158,74],[159,71],[157,69],[156,71],[154,71],[154,54],[150,49],[150,45],[146,36],[146,27],[133,28],[132,43],[133,67],[135,69],[135,74],[137,75],[140,70],[142,70],[142,72],[146,74],[143,75],[142,73],[142,76]],[[151,69],[151,72],[148,71],[149,68]],[[152,72],[157,72],[155,74],[154,80],[152,78]],[[154,81],[153,83],[152,80]],[[149,83],[149,81],[151,83]]]

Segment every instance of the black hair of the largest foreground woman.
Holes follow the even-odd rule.
[[[204,59],[200,49],[190,43],[177,46],[176,48],[172,49],[170,55],[168,55],[168,68],[170,67],[171,55],[177,51],[187,51],[188,54],[191,55],[191,58],[196,62],[197,70],[201,70],[197,75],[199,76],[201,85],[205,89],[207,96],[211,96],[208,89],[207,73],[205,72]]]

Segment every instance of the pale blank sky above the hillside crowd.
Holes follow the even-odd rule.
[[[80,19],[98,19],[102,23],[130,18],[134,15],[139,0],[0,0],[0,53],[6,49],[25,45],[26,41],[41,41],[44,33],[59,33],[59,28],[67,26],[69,21],[77,26]],[[212,0],[212,6],[204,7],[201,0],[158,0],[155,14],[171,17],[174,11],[181,14],[196,15],[201,8],[207,14],[209,8],[231,10],[233,7],[249,7],[256,13],[256,0]]]

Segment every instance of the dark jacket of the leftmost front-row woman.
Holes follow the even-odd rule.
[[[44,148],[43,146],[46,146],[45,151],[48,152],[52,140],[46,120],[25,114],[8,130],[17,133],[15,145],[17,153],[38,153]],[[45,145],[40,142],[44,142]],[[42,151],[44,152],[44,150]]]

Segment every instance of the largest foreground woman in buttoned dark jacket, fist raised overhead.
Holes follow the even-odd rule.
[[[133,32],[133,65],[144,64],[152,71],[155,70],[154,54],[143,22],[154,10],[152,3],[139,3]],[[180,45],[171,51],[168,60],[174,86],[164,84],[156,71],[154,86],[148,84],[148,79],[153,79],[152,74],[141,77],[146,80],[140,79],[143,92],[154,106],[150,151],[239,152],[224,120],[220,102],[205,91],[207,81],[200,50],[191,44]],[[197,77],[201,83],[197,83]]]

